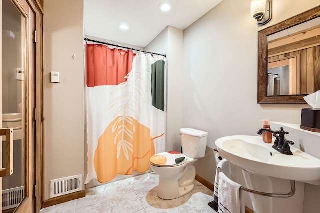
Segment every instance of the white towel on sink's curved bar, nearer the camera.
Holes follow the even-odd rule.
[[[243,199],[240,198],[241,185],[233,182],[224,173],[219,173],[218,213],[244,213]]]

